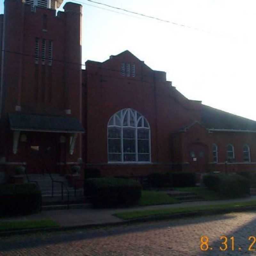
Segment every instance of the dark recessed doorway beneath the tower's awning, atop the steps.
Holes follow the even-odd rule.
[[[28,134],[28,173],[43,174],[57,172],[56,133],[29,132]]]

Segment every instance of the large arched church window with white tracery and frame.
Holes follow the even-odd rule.
[[[108,121],[108,162],[150,162],[150,127],[147,119],[125,108]]]

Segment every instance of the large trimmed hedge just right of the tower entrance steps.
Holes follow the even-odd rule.
[[[94,207],[112,207],[138,203],[141,185],[135,180],[118,178],[86,179],[84,194]]]

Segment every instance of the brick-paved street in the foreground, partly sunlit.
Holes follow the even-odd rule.
[[[208,250],[200,249],[208,236]],[[220,236],[228,237],[227,251]],[[234,236],[234,251],[230,237]],[[256,212],[111,228],[1,237],[0,255],[256,255]],[[203,245],[203,249],[206,245]],[[239,251],[239,248],[240,251]]]

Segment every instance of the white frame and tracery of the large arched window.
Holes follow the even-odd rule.
[[[124,126],[124,118],[127,114],[128,117],[128,124],[126,126]],[[113,119],[112,119],[113,118]],[[130,121],[134,120],[134,126],[131,125]],[[120,121],[120,125],[116,124],[116,119],[119,119]],[[113,124],[110,124],[110,122],[113,120]],[[139,122],[141,121],[141,127],[138,126]],[[132,109],[132,108],[125,108],[122,109],[120,111],[118,111],[117,113],[115,113],[113,116],[111,116],[108,120],[108,126],[107,126],[107,134],[108,134],[108,128],[109,127],[116,127],[121,129],[121,161],[109,161],[109,154],[113,154],[111,152],[108,152],[108,163],[113,164],[113,163],[122,163],[122,164],[129,164],[129,163],[151,163],[151,135],[150,135],[150,125],[148,123],[148,120],[141,115],[139,112],[137,112],[136,110]],[[135,161],[124,161],[124,154],[129,154],[129,153],[125,153],[124,152],[124,148],[123,148],[123,129],[125,128],[131,128],[135,130],[135,153],[131,153],[131,154],[135,154]],[[138,153],[138,130],[139,129],[147,129],[148,130],[148,153]],[[109,138],[107,138],[108,140]],[[143,139],[139,139],[139,140],[143,140]],[[116,154],[120,154],[120,153],[116,153]],[[138,160],[138,155],[149,155],[149,160],[148,161],[139,161]]]

